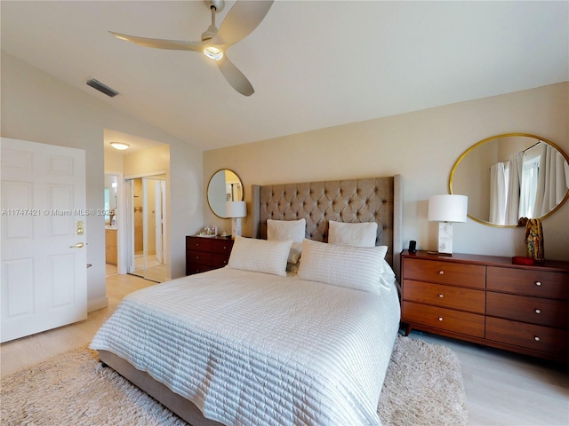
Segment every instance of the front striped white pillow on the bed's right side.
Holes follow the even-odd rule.
[[[355,247],[304,240],[297,277],[381,296],[382,261],[387,252],[387,246]]]

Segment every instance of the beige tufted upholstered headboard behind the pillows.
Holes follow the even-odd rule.
[[[375,244],[399,277],[403,248],[401,175],[365,179],[252,185],[252,237],[267,238],[267,219],[306,219],[306,238],[328,241],[328,221],[377,222]]]

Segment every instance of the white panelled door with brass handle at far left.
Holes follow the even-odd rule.
[[[1,335],[87,318],[85,153],[2,138]]]

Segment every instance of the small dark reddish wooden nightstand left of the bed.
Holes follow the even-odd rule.
[[[186,275],[211,271],[228,264],[233,240],[227,237],[186,237]]]

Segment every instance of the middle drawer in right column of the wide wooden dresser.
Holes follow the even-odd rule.
[[[504,319],[569,329],[569,302],[489,291],[486,314]]]

